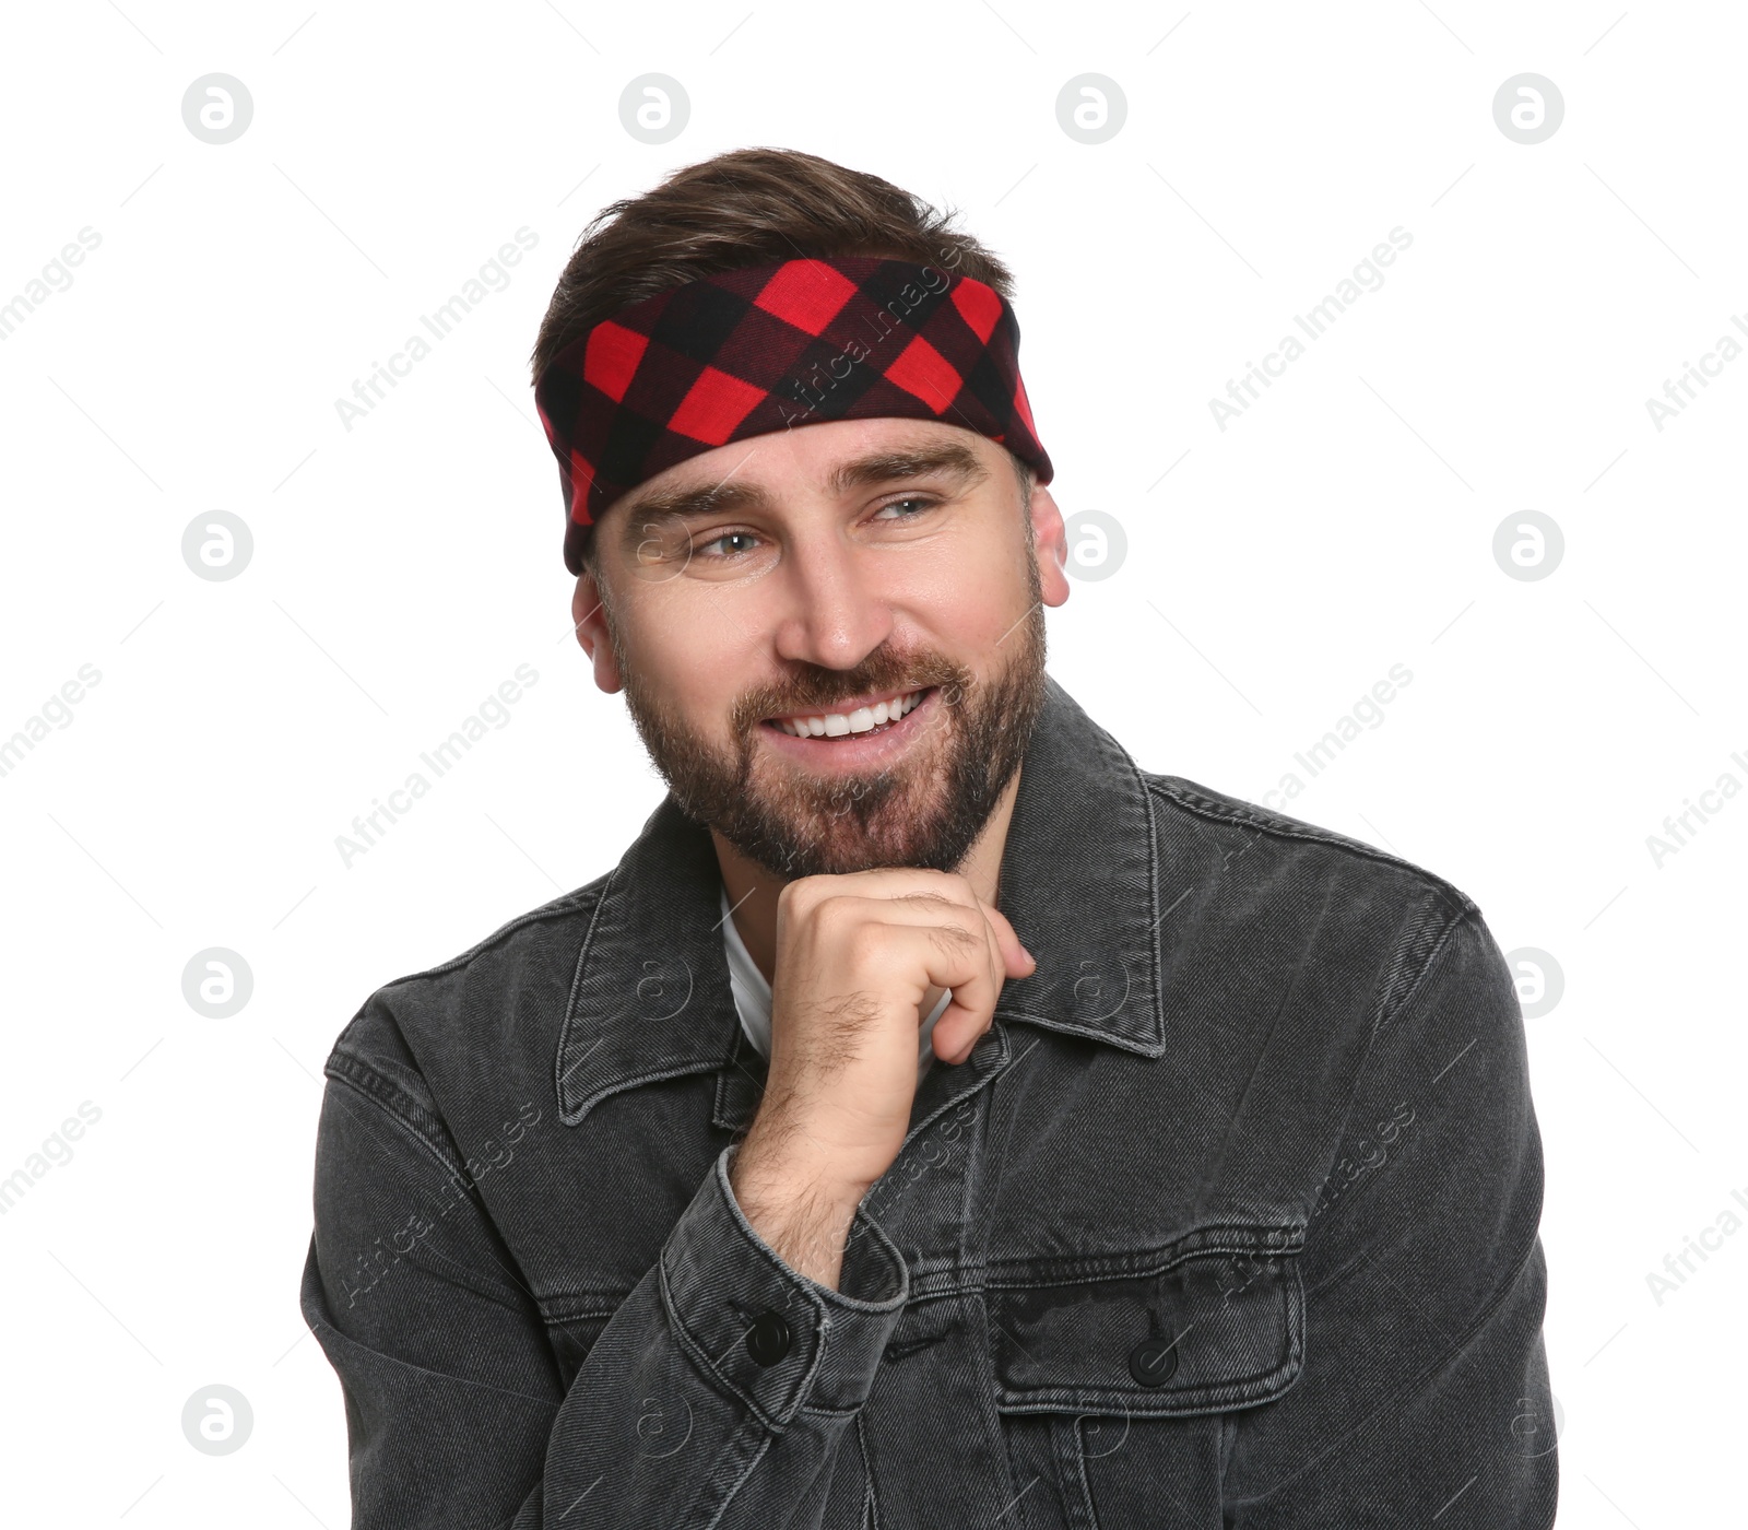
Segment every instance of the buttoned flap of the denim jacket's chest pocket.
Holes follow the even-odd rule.
[[[1302,1227],[1201,1229],[1164,1248],[991,1271],[1003,1413],[1218,1413],[1304,1364]]]

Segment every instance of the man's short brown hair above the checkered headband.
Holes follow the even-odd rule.
[[[734,149],[687,164],[654,191],[621,198],[589,220],[540,320],[530,357],[533,381],[566,344],[621,308],[767,261],[914,261],[972,276],[1012,301],[1012,273],[995,252],[954,229],[956,217],[890,180],[799,149]],[[1024,502],[1033,474],[1012,460]]]

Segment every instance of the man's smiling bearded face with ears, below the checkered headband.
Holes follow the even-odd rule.
[[[1049,490],[1023,502],[995,442],[806,425],[615,502],[579,638],[680,808],[774,876],[953,871],[1042,705],[1063,556]]]

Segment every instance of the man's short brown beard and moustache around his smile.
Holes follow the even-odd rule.
[[[1044,602],[1026,544],[1031,609],[1002,638],[1007,664],[989,680],[932,649],[886,643],[850,670],[797,661],[785,680],[757,685],[731,712],[732,745],[689,726],[657,698],[607,626],[626,706],[680,811],[722,834],[785,881],[872,867],[958,871],[1026,754],[1044,708]],[[760,747],[767,717],[820,713],[843,696],[937,687],[925,733],[902,757],[869,773],[811,775]]]

